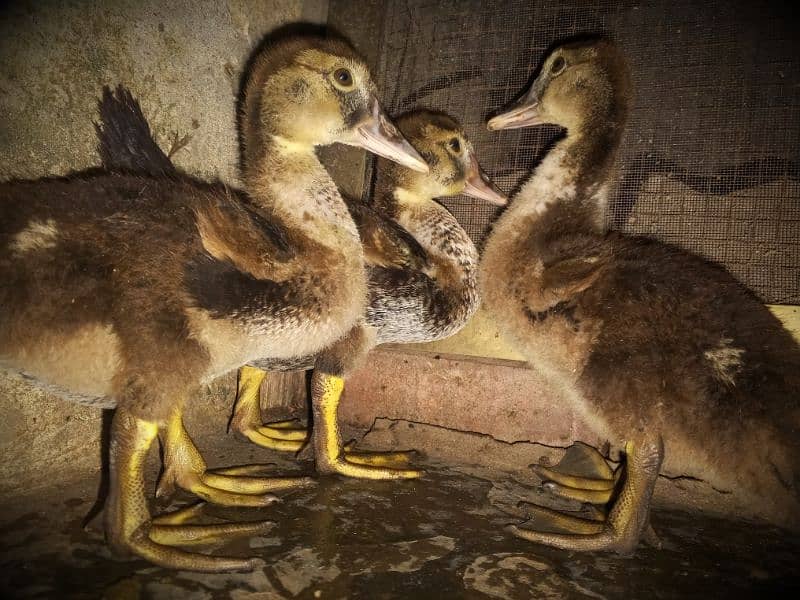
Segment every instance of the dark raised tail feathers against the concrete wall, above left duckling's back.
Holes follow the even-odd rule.
[[[147,175],[174,175],[175,165],[158,147],[139,102],[118,85],[103,87],[97,103],[100,120],[94,124],[97,151],[109,171]]]

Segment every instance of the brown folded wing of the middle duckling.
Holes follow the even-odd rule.
[[[428,266],[425,249],[403,227],[363,202],[345,198],[358,227],[368,266],[422,271]]]

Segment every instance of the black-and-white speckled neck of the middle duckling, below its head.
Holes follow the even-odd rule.
[[[434,262],[447,263],[457,280],[475,283],[478,251],[467,232],[445,207],[429,196],[398,187],[393,190],[389,216],[402,225],[425,249]]]

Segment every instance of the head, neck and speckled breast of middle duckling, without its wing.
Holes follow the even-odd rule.
[[[379,161],[373,205],[414,237],[427,261],[419,270],[370,268],[367,320],[379,324],[379,342],[427,342],[457,332],[479,304],[475,245],[435,199],[466,194],[502,205],[505,197],[483,174],[453,118],[419,110],[397,124],[431,170],[420,174]]]

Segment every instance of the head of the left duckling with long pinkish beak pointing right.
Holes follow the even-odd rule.
[[[334,142],[428,170],[386,117],[367,66],[346,42],[288,38],[266,46],[251,65],[240,111],[245,173],[271,144],[313,152]]]

